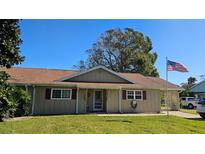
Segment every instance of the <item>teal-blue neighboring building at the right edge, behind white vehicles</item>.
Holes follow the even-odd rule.
[[[205,81],[201,81],[194,85],[190,88],[190,91],[194,93],[196,98],[205,98]]]

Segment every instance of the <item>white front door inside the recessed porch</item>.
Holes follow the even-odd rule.
[[[103,91],[95,90],[93,100],[94,100],[93,111],[102,111],[103,110]]]

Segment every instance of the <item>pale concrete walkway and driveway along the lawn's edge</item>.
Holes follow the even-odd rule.
[[[122,114],[97,114],[97,116],[166,116],[167,112],[162,111],[161,113],[122,113]],[[169,111],[169,115],[178,116],[182,118],[200,118],[198,114],[184,113],[180,111]]]

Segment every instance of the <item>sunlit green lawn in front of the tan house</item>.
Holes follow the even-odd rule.
[[[205,133],[205,121],[175,116],[99,117],[36,116],[0,123],[0,133],[46,134],[184,134]]]

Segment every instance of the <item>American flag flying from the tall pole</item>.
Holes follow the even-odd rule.
[[[167,61],[167,70],[168,71],[179,71],[179,72],[188,72],[186,67],[184,67],[182,64],[173,62],[168,60]]]

